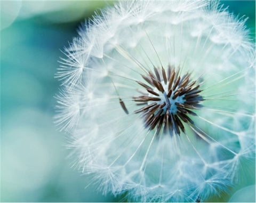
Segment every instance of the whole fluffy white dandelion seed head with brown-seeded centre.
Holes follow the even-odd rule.
[[[120,1],[65,48],[60,129],[103,193],[204,201],[255,160],[254,47],[217,1]]]

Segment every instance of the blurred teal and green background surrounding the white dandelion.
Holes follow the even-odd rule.
[[[65,134],[53,124],[60,50],[108,3],[1,1],[1,201],[119,201],[86,187],[90,177],[70,167]],[[221,3],[249,17],[254,37],[255,1]]]

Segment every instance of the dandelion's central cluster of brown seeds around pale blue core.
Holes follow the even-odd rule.
[[[137,81],[144,87],[147,93],[141,96],[133,96],[133,101],[138,105],[144,105],[134,113],[142,113],[145,127],[153,130],[156,128],[158,135],[161,129],[172,136],[173,133],[180,135],[185,132],[183,123],[194,124],[188,115],[196,116],[194,109],[202,107],[199,104],[203,97],[199,94],[200,85],[196,80],[191,80],[189,73],[180,76],[180,69],[175,70],[168,66],[167,74],[165,69],[154,68],[147,75],[141,75],[147,83]]]

